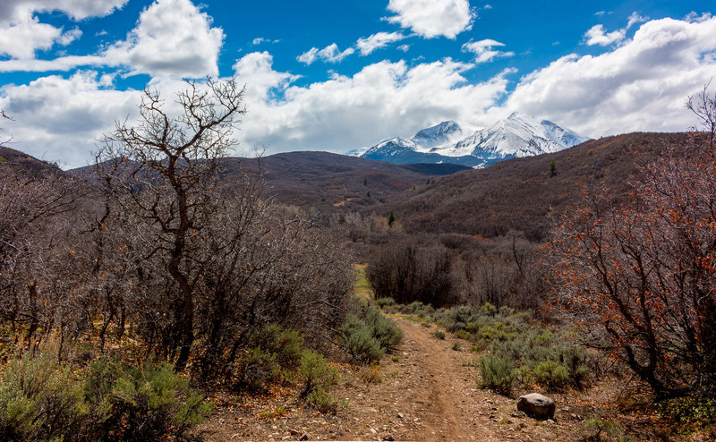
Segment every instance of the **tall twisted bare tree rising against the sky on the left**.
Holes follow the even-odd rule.
[[[194,338],[197,285],[210,258],[222,252],[217,245],[207,254],[212,238],[205,229],[220,208],[220,159],[234,146],[234,126],[245,110],[243,89],[233,79],[191,82],[176,103],[180,113],[170,115],[158,92],[145,90],[140,122],[117,123],[96,166],[107,194],[136,223],[138,259],[157,257],[170,276],[164,290],[178,295],[171,301],[181,327],[175,366],[182,370]]]

